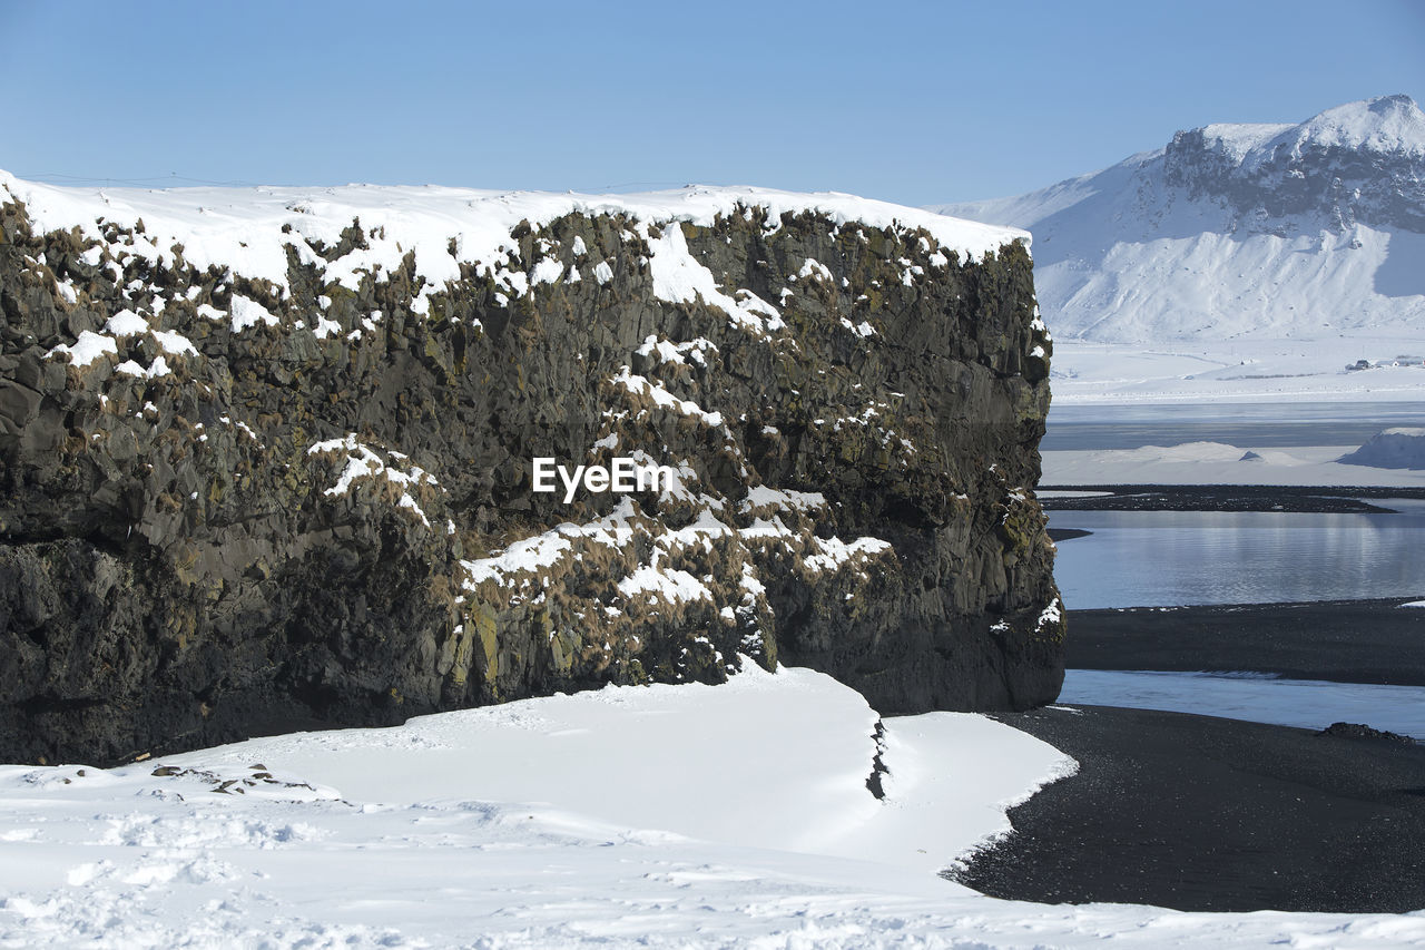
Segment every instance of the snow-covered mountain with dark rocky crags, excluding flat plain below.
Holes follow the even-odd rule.
[[[933,208],[1035,235],[1060,338],[1425,337],[1425,114],[1213,124],[1013,198]]]

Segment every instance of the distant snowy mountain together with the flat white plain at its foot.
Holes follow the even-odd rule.
[[[1059,402],[1425,398],[1425,114],[1207,126],[933,208],[1035,234]],[[1368,372],[1347,372],[1367,361]]]

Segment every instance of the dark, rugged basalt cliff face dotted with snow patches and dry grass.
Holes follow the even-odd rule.
[[[372,213],[292,201],[224,264],[33,195],[0,190],[0,760],[747,662],[885,713],[1057,695],[1013,235],[570,207],[452,225],[435,281]],[[564,504],[543,456],[677,476]]]

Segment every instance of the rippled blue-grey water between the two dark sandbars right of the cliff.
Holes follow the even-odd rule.
[[[1070,609],[1425,596],[1425,504],[1398,515],[1050,512]]]

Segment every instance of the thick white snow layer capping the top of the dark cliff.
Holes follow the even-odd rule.
[[[1017,228],[962,221],[929,211],[841,193],[798,194],[772,188],[688,185],[647,194],[554,194],[546,191],[482,191],[437,185],[342,185],[256,188],[77,188],[23,181],[0,171],[0,204],[17,198],[43,231],[78,225],[98,237],[100,218],[121,227],[144,223],[144,234],[160,255],[174,242],[200,268],[231,267],[251,277],[286,284],[286,244],[316,238],[336,244],[343,228],[361,218],[363,231],[385,230],[365,264],[388,271],[406,251],[416,252],[416,272],[440,284],[459,277],[462,261],[489,262],[513,248],[510,231],[571,213],[627,214],[644,223],[688,221],[708,225],[740,207],[767,208],[772,220],[791,211],[815,211],[838,224],[875,228],[925,228],[946,251],[979,258],[1010,241],[1029,244]],[[289,225],[291,234],[284,233]],[[455,254],[450,241],[455,241]]]

